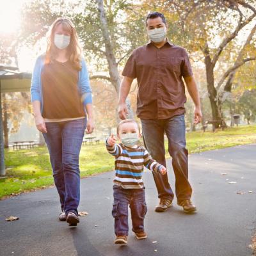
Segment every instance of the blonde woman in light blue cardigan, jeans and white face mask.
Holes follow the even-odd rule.
[[[53,22],[46,53],[36,60],[31,82],[36,128],[43,132],[54,183],[60,195],[59,219],[79,223],[79,153],[84,136],[92,133],[92,90],[76,29],[69,19]],[[87,117],[86,117],[87,116]]]

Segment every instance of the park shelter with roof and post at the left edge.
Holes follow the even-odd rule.
[[[30,84],[31,74],[19,72],[16,67],[0,65],[0,176],[5,175],[1,93],[28,92]]]

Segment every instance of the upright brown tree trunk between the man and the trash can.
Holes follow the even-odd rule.
[[[207,81],[207,92],[209,95],[209,100],[211,103],[211,110],[212,110],[212,121],[213,122],[220,122],[221,115],[218,109],[218,101],[217,101],[217,91],[214,87],[214,73],[213,69],[214,66],[211,63],[211,59],[209,56],[205,56],[205,68],[206,68],[206,81]],[[217,124],[212,124],[214,128],[218,128]]]

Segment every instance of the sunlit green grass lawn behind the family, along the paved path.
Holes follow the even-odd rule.
[[[256,125],[232,127],[216,132],[188,132],[186,138],[190,154],[256,143]],[[169,157],[167,144],[166,141],[166,157]],[[0,198],[53,184],[51,164],[46,147],[6,150],[5,159],[7,177],[0,179]],[[80,154],[81,177],[108,172],[113,168],[114,157],[106,152],[103,143],[82,147]]]

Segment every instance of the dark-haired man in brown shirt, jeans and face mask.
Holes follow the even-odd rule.
[[[188,180],[184,122],[186,95],[182,77],[195,104],[195,124],[202,118],[198,90],[188,53],[166,38],[164,15],[159,12],[149,13],[146,26],[150,42],[132,52],[122,72],[124,78],[120,87],[118,114],[121,119],[126,118],[128,111],[125,99],[132,80],[137,78],[137,115],[141,119],[145,146],[153,159],[166,166],[164,133],[166,134],[175,173],[177,204],[186,213],[195,212],[196,207],[190,200],[192,188]],[[163,212],[172,204],[173,191],[167,173],[153,175],[160,199],[155,211]]]

